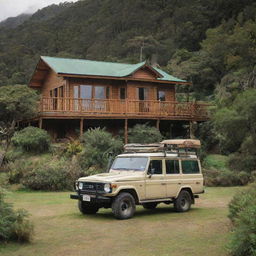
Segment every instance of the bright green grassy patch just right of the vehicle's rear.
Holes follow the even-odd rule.
[[[228,156],[218,154],[208,155],[204,159],[203,166],[209,169],[228,170]]]

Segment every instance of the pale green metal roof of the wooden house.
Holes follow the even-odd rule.
[[[137,64],[124,64],[104,61],[92,61],[83,59],[67,59],[42,56],[41,59],[46,62],[58,74],[72,74],[85,76],[110,76],[126,77],[134,73],[139,68],[147,65],[146,62]],[[147,65],[149,66],[149,65]],[[160,81],[186,82],[174,76],[167,74],[159,68],[150,66],[161,77]]]

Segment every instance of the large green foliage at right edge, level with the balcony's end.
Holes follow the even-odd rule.
[[[233,153],[230,168],[249,173],[256,170],[256,89],[248,89],[228,107],[220,107],[213,125],[221,151]]]

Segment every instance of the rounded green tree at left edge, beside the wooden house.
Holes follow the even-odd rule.
[[[36,91],[25,85],[0,87],[0,137],[5,142],[4,153],[0,155],[0,166],[17,122],[36,115],[38,99]]]

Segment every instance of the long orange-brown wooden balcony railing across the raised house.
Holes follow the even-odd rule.
[[[80,99],[43,97],[40,116],[49,118],[209,119],[208,104],[157,100]]]

